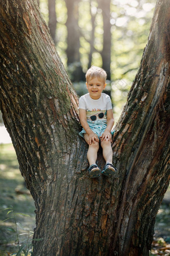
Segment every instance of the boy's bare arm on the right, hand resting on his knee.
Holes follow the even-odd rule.
[[[104,133],[100,136],[101,142],[106,139],[111,141],[110,131],[112,129],[113,124],[114,124],[113,112],[112,112],[112,109],[109,109],[109,110],[107,110],[107,127],[106,127]]]

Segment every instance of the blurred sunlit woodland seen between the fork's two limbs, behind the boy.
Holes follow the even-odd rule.
[[[59,56],[80,96],[91,66],[107,72],[117,120],[147,42],[155,0],[38,0]]]

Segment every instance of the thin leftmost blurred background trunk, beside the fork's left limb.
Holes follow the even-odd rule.
[[[48,0],[48,27],[53,39],[54,45],[56,45],[56,12],[55,12],[55,0]]]

